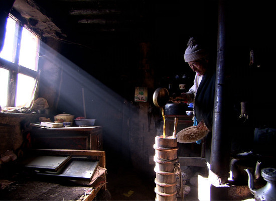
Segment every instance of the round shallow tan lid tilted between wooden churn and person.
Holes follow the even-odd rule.
[[[196,126],[190,126],[179,131],[176,134],[177,142],[179,143],[192,143],[204,138],[209,131],[198,130]]]

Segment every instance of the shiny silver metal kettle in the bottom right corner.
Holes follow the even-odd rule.
[[[256,170],[255,170],[255,179],[257,179],[259,175],[259,168],[260,161],[256,164]],[[245,171],[248,174],[248,187],[250,189],[250,192],[254,195],[255,200],[257,201],[272,201],[276,200],[276,169],[272,167],[267,167],[261,169],[261,176],[266,181],[266,184],[256,189],[254,188],[254,179],[252,173],[249,171],[249,169],[245,169]]]

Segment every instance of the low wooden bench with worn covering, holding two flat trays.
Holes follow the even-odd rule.
[[[105,152],[99,150],[37,149],[26,152],[26,155],[97,157],[99,159],[99,166],[106,167]],[[11,184],[1,191],[0,200],[91,201],[100,190],[102,190],[102,193],[106,193],[107,190],[106,172],[99,176],[91,185],[80,185],[64,178],[39,177],[34,173],[27,174],[26,170],[23,174],[21,172],[22,169],[14,169],[19,170],[19,173],[15,174],[12,179],[9,179]]]

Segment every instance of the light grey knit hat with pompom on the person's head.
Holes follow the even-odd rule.
[[[188,47],[184,53],[185,62],[196,61],[202,59],[208,55],[207,50],[197,44],[196,40],[191,37],[188,41]]]

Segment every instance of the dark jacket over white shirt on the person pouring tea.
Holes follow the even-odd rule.
[[[215,83],[215,70],[207,70],[198,86],[194,106],[197,122],[199,123],[203,119],[206,127],[210,131],[212,131],[213,126]]]

